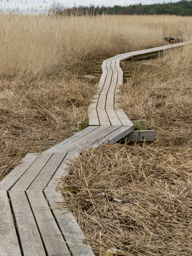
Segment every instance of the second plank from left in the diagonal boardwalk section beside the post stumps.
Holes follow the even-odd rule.
[[[68,152],[70,150],[72,150],[73,148],[79,150],[79,148],[86,148],[86,146],[88,147],[92,141],[95,140],[95,138],[98,136],[98,134],[100,135],[100,133],[104,132],[108,127],[110,127],[109,125],[102,125],[99,126],[98,129],[96,129],[95,131],[93,131],[90,136],[85,136],[85,137],[81,137],[79,140],[77,140],[74,143],[71,143],[71,145],[65,147],[65,148],[61,148],[58,152],[63,152],[65,150],[65,152]]]

